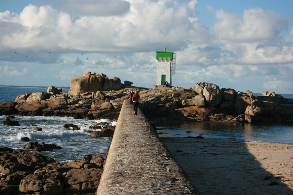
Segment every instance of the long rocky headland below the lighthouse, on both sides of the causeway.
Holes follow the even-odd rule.
[[[104,74],[89,73],[85,75],[85,77],[92,76],[102,77],[104,81],[106,80],[106,75]],[[113,80],[119,83],[118,78]],[[81,98],[70,97],[67,93],[62,92],[56,95],[50,94],[49,99],[41,101],[21,104],[4,102],[0,104],[0,114],[72,116],[75,119],[97,120],[108,118],[113,120],[117,119],[123,101],[128,98],[130,90],[133,90],[139,92],[141,98],[139,108],[148,118],[160,118],[160,120],[164,118],[164,120],[293,123],[293,111],[283,106],[283,101],[286,100],[283,98],[261,98],[263,96],[254,96],[248,90],[243,93],[229,88],[219,89],[215,84],[204,82],[197,83],[192,89],[183,89],[181,90],[178,87],[170,89],[159,86],[154,87],[154,89],[146,89],[131,86],[111,91],[86,92],[82,94]],[[274,102],[275,99],[276,102]],[[277,101],[280,101],[280,103]],[[194,106],[197,106],[196,109]],[[253,116],[246,113],[248,106],[261,108],[260,117],[259,115]],[[102,127],[104,126],[95,125],[91,128],[95,130]],[[72,128],[73,130],[78,130],[78,128]],[[100,137],[103,136],[103,133],[95,132],[92,135]]]

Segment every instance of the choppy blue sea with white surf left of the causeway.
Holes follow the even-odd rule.
[[[1,87],[0,103],[4,101],[14,101],[20,94],[32,92],[45,92],[46,87]],[[68,92],[68,89],[64,89]],[[0,116],[0,145],[13,149],[24,149],[23,146],[28,142],[21,141],[22,137],[28,137],[32,141],[46,144],[57,144],[61,150],[40,152],[44,155],[54,158],[57,162],[67,163],[74,159],[81,159],[87,154],[97,154],[105,157],[111,137],[90,137],[91,130],[89,126],[98,122],[108,122],[109,125],[116,125],[116,122],[108,119],[101,120],[83,120],[73,119],[72,117],[44,117],[44,116],[16,116],[15,119],[21,126],[2,125],[6,116]],[[74,124],[80,127],[80,130],[67,130],[64,124]],[[36,126],[42,127],[42,131],[35,131]],[[28,150],[30,151],[30,150]]]

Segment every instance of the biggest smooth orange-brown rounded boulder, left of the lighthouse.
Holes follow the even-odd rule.
[[[96,92],[103,89],[105,78],[101,75],[88,73],[83,77],[74,78],[70,82],[70,94],[77,96],[85,92]]]

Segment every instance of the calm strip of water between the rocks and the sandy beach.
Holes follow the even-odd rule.
[[[229,122],[155,122],[161,137],[196,137],[293,144],[293,125]]]

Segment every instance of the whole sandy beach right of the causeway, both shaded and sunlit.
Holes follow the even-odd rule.
[[[293,145],[179,137],[161,140],[201,194],[293,194]]]

